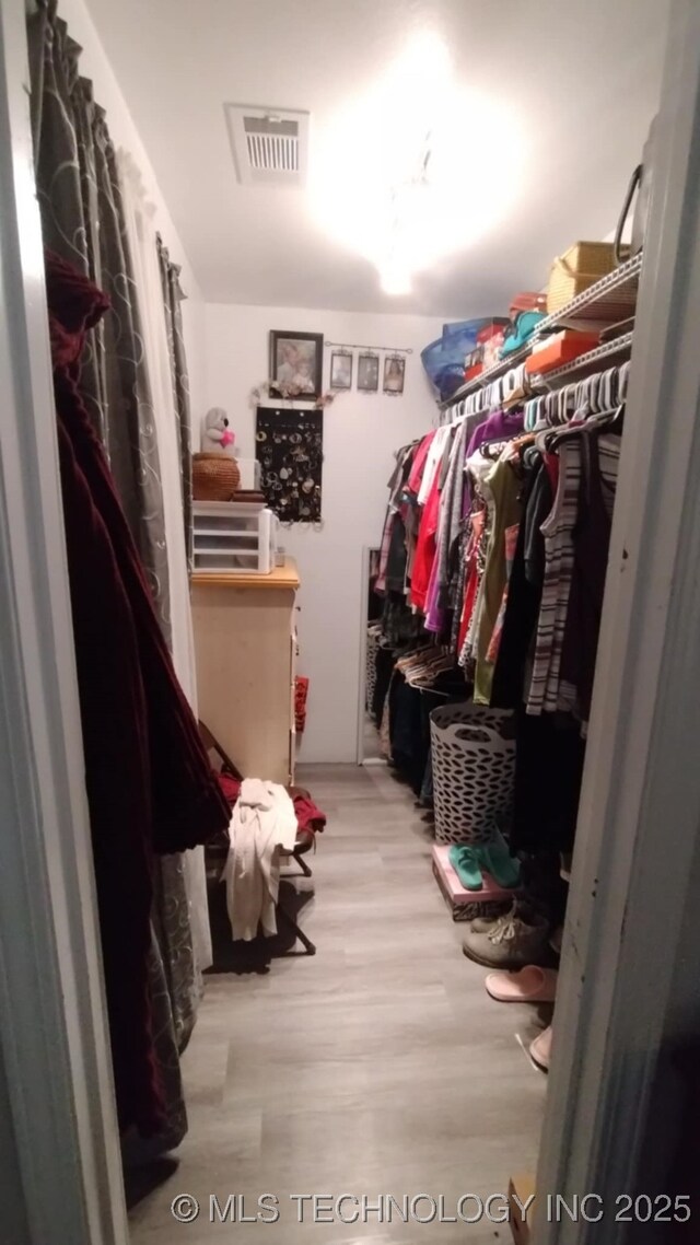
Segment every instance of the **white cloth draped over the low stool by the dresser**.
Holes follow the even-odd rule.
[[[279,783],[244,778],[229,825],[230,848],[224,868],[228,916],[234,939],[250,941],[258,925],[277,934],[279,852],[294,849],[294,804]]]

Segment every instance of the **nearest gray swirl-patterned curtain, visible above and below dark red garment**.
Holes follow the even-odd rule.
[[[92,332],[83,356],[81,388],[110,458],[169,642],[158,444],[115,149],[105,112],[95,102],[92,83],[80,77],[81,49],[57,17],[56,0],[37,0],[27,32],[35,173],[44,240],[105,290],[112,304]],[[156,1057],[168,1104],[168,1130],[141,1150],[132,1145],[131,1155],[138,1158],[149,1158],[158,1149],[179,1144],[187,1132],[179,1053],[194,1025],[201,986],[182,858],[161,858],[156,874],[151,1006]],[[125,913],[125,921],[128,921],[128,913]]]

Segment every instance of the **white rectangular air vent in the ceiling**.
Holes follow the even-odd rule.
[[[238,181],[243,186],[303,186],[309,113],[290,108],[224,105]]]

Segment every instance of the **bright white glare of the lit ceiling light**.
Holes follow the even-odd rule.
[[[517,118],[461,87],[442,40],[423,34],[315,136],[313,154],[319,224],[375,264],[385,293],[401,296],[416,273],[512,210],[524,143]]]

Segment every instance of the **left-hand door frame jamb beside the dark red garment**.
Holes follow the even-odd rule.
[[[127,1245],[22,0],[0,0],[0,1163],[17,1245]]]

